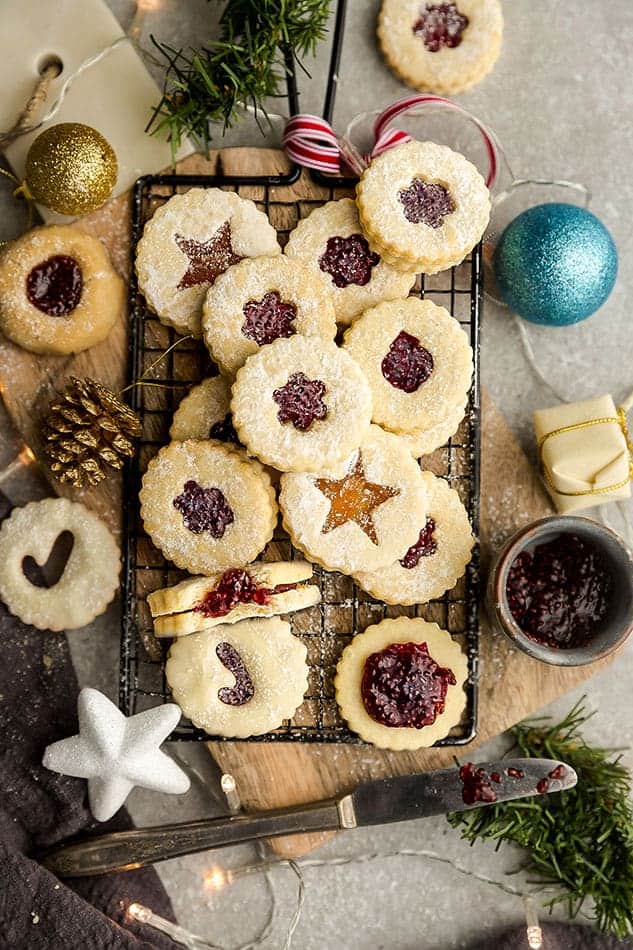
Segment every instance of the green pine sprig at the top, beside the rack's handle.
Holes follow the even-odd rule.
[[[152,37],[167,63],[163,97],[148,130],[167,135],[175,155],[185,136],[208,150],[210,122],[226,130],[240,108],[266,118],[263,102],[283,95],[288,61],[314,54],[330,0],[228,0],[220,37],[201,50],[174,49]]]

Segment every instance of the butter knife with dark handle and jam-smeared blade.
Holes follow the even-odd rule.
[[[42,864],[59,877],[131,871],[184,854],[261,838],[340,831],[444,815],[573,788],[572,768],[551,759],[504,759],[363,782],[339,798],[256,814],[135,828],[58,845]]]

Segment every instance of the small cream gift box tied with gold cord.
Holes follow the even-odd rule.
[[[543,478],[558,511],[631,497],[626,411],[611,396],[539,409],[534,428]]]

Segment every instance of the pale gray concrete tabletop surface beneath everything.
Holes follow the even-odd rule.
[[[110,0],[124,27],[134,14],[131,0]],[[205,0],[161,0],[148,13],[143,43],[149,33],[173,46],[198,44],[214,35],[216,5]],[[336,126],[342,130],[355,114],[380,108],[405,93],[383,66],[373,30],[376,0],[350,0],[348,29],[341,68]],[[611,229],[620,253],[620,274],[603,309],[585,323],[566,330],[530,334],[539,364],[569,399],[610,391],[616,399],[633,388],[630,314],[626,296],[633,285],[630,226],[633,181],[628,173],[633,125],[633,78],[630,47],[633,7],[629,0],[598,4],[592,0],[506,0],[503,53],[493,74],[461,102],[489,123],[505,145],[519,177],[569,178],[588,185],[592,210]],[[311,79],[301,81],[301,104],[319,111],[324,95],[328,43],[322,44]],[[279,108],[279,104],[275,105]],[[227,137],[227,144],[257,144],[261,139],[250,121]],[[2,209],[16,228],[22,218],[1,186]],[[12,217],[11,217],[12,216]],[[551,397],[531,373],[508,313],[489,303],[484,317],[483,380],[503,408],[517,436],[531,453],[531,411],[550,404]],[[609,520],[629,529],[621,513]],[[631,522],[633,512],[628,507]],[[90,628],[72,635],[71,644],[82,684],[114,695],[118,650],[118,612],[113,606]],[[590,734],[605,745],[629,745],[633,739],[630,682],[633,649],[610,669],[594,677],[550,710],[564,713],[583,692],[596,711]],[[504,747],[501,738],[478,752],[489,757]],[[194,777],[192,791],[180,798],[140,790],[129,799],[139,824],[182,820],[216,813],[220,807],[212,763],[197,746],[172,746]],[[631,755],[626,753],[629,763]],[[491,848],[471,850],[442,820],[389,826],[349,833],[321,849],[318,858],[344,857],[402,848],[427,848],[502,880],[514,870],[519,855]],[[265,921],[269,894],[260,875],[220,890],[204,884],[215,864],[235,866],[252,859],[248,848],[167,862],[160,874],[181,922],[210,942],[235,948]],[[510,896],[446,865],[429,860],[394,857],[370,864],[306,869],[307,898],[293,947],[321,950],[454,950],[475,938],[521,920],[517,897]],[[525,886],[522,875],[509,879]],[[296,881],[286,869],[272,876],[277,894],[273,933],[268,948],[283,946],[293,913]]]

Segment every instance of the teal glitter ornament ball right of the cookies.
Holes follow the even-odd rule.
[[[578,205],[528,208],[507,226],[493,257],[501,297],[531,323],[563,327],[601,307],[613,289],[618,253],[594,214]]]

